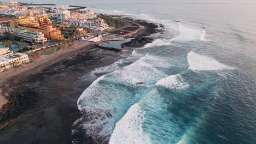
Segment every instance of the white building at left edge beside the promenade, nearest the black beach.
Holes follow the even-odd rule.
[[[0,71],[29,62],[28,56],[24,53],[16,53],[0,58]]]

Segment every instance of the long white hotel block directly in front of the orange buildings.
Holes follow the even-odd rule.
[[[27,29],[15,28],[14,29],[15,37],[24,39],[25,41],[33,42],[33,39],[36,40],[37,43],[44,43],[47,39],[44,37],[42,32],[31,32],[27,31]]]

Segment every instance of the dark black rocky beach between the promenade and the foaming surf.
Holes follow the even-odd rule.
[[[77,99],[91,84],[79,77],[117,57],[114,51],[84,52],[5,85],[14,107],[1,116],[1,143],[71,143],[72,124],[80,117]]]

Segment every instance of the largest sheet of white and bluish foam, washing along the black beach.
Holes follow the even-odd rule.
[[[138,54],[133,52],[133,55]],[[78,99],[78,108],[84,113],[84,118],[79,122],[86,129],[86,134],[95,140],[110,135],[116,119],[123,117],[127,111],[126,107],[142,97],[134,95],[131,88],[154,86],[156,81],[166,76],[159,67],[170,66],[165,57],[146,55],[94,81]]]

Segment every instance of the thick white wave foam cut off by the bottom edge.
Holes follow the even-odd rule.
[[[115,124],[109,144],[143,144],[150,143],[149,136],[143,131],[142,123],[145,112],[138,103],[132,105],[123,118]]]

